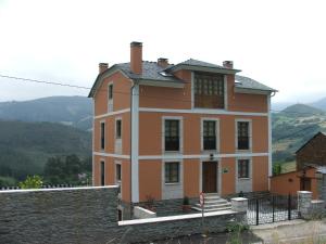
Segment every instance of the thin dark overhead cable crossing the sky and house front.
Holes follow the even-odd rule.
[[[46,85],[53,85],[53,86],[61,86],[61,87],[70,87],[70,88],[77,88],[77,89],[84,89],[84,90],[91,90],[91,88],[89,87],[83,87],[83,86],[75,86],[75,85],[68,85],[68,84],[63,84],[63,82],[55,82],[55,81],[49,81],[49,80],[39,80],[39,79],[30,79],[30,78],[23,78],[23,77],[16,77],[16,76],[8,76],[8,75],[1,75],[0,77],[2,78],[9,78],[9,79],[15,79],[15,80],[23,80],[23,81],[28,81],[28,82],[37,82],[37,84],[46,84]],[[108,92],[106,88],[100,88],[97,89],[97,92]],[[118,93],[118,94],[125,94],[125,95],[130,95],[129,92],[125,92],[125,91],[118,91],[115,90],[113,91],[113,93]],[[145,93],[141,94],[136,94],[136,95],[140,95],[140,97],[145,97],[148,99],[155,99],[155,100],[164,100],[167,99],[170,101],[176,101],[176,102],[183,102],[183,103],[189,103],[192,102],[189,99],[172,99],[172,98],[164,98],[164,97],[158,97],[158,95],[148,95]],[[247,106],[247,105],[237,105],[237,106],[233,106],[230,104],[228,104],[228,107],[237,107],[237,108],[256,108],[253,106]],[[285,111],[277,111],[277,110],[271,110],[271,112],[275,112],[275,113],[286,113],[286,114],[300,114],[300,115],[316,115],[317,113],[309,113],[309,112],[294,112],[294,111],[289,111],[289,112],[285,112]]]

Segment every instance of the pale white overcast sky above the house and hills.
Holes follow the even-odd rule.
[[[279,90],[274,102],[326,97],[325,1],[3,1],[0,75],[91,87],[98,63],[190,57],[222,64]],[[0,101],[87,95],[0,77]]]

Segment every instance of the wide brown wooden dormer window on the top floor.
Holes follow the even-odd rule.
[[[224,76],[195,73],[193,105],[201,108],[225,108]]]

